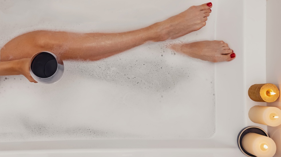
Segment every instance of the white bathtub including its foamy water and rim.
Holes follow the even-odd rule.
[[[42,29],[134,30],[202,3],[0,1],[0,44]],[[1,76],[0,156],[244,156],[239,131],[267,129],[247,115],[266,105],[247,96],[266,81],[266,0],[212,3],[201,30],[96,62],[65,61],[54,85]],[[227,42],[236,59],[213,64],[166,48],[201,40]]]

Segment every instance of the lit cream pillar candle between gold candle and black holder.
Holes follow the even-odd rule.
[[[281,124],[281,110],[277,107],[254,106],[249,111],[249,118],[254,123],[277,127]]]

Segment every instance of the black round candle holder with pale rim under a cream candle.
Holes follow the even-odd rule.
[[[238,136],[237,136],[237,145],[239,147],[239,149],[241,150],[242,153],[244,153],[245,155],[249,156],[249,157],[256,157],[254,156],[253,154],[250,154],[249,152],[247,152],[243,146],[242,146],[242,139],[243,137],[248,134],[248,133],[256,133],[256,134],[260,134],[260,135],[263,135],[263,136],[268,136],[268,134],[260,127],[245,127],[244,129],[242,129]]]

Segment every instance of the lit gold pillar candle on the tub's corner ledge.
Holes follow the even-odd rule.
[[[254,84],[249,88],[248,95],[254,101],[271,103],[279,97],[279,90],[271,83]]]

